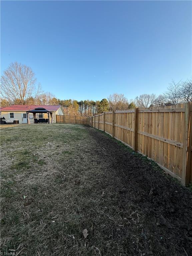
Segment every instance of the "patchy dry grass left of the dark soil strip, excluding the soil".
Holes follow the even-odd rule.
[[[123,225],[113,189],[117,180],[105,173],[108,167],[98,157],[88,128],[63,124],[6,127],[1,130],[1,144],[3,252],[15,249],[33,256],[123,253],[112,229]],[[130,214],[136,212],[130,208]],[[85,228],[87,239],[82,234]]]

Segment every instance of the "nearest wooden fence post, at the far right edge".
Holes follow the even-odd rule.
[[[184,135],[183,135],[183,162],[182,162],[182,174],[181,174],[181,182],[183,185],[187,185],[189,183],[189,175],[190,175],[190,154],[191,147],[189,148],[191,141],[189,141],[189,125],[190,125],[190,111],[189,111],[189,103],[185,103],[185,118],[184,118]],[[188,159],[187,159],[188,158]]]

